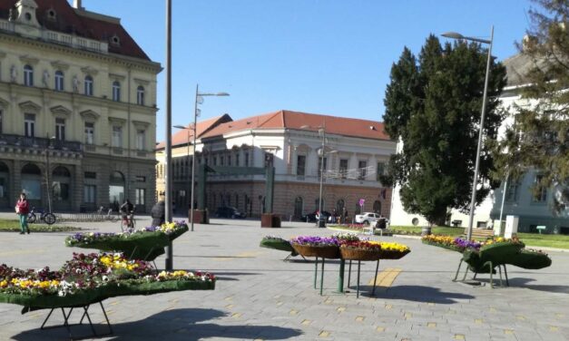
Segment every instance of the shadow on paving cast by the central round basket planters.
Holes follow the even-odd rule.
[[[352,287],[353,289],[354,287]],[[369,296],[373,286],[359,287],[360,295]],[[377,287],[376,297],[378,298],[393,298],[405,299],[407,301],[427,302],[438,304],[454,304],[456,300],[473,299],[474,296],[440,291],[437,287],[423,287],[423,286],[395,286],[395,287]]]

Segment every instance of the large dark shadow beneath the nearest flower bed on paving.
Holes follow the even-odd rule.
[[[235,325],[234,322],[229,326],[202,323],[215,318],[227,317],[227,315],[227,313],[215,309],[166,310],[142,320],[113,324],[113,335],[106,336],[106,338],[111,340],[198,340],[205,337],[224,337],[276,340],[302,334],[299,329],[280,326],[239,326]],[[103,317],[101,316],[101,318]],[[98,319],[98,316],[95,317],[95,320]],[[112,317],[111,323],[113,323]],[[108,331],[108,327],[103,323],[93,324],[93,326],[97,333],[103,334]],[[91,334],[91,328],[84,324],[83,326],[72,326],[71,330],[74,337]],[[69,339],[69,335],[64,327],[41,330],[38,324],[38,328],[26,330],[13,336],[13,339],[21,341]]]

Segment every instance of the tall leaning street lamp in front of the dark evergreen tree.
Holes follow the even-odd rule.
[[[488,60],[486,62],[486,79],[484,81],[484,93],[482,95],[482,112],[480,113],[480,128],[478,132],[478,148],[476,149],[476,165],[475,165],[475,175],[474,180],[472,182],[472,198],[470,199],[470,217],[468,219],[468,233],[467,238],[468,240],[472,239],[472,225],[474,222],[474,212],[476,206],[476,182],[478,180],[478,168],[480,166],[480,150],[482,148],[482,133],[484,132],[484,115],[486,112],[486,93],[488,92],[488,78],[490,75],[490,61],[492,59],[492,44],[494,43],[494,25],[492,25],[492,29],[490,32],[490,40],[480,39],[480,38],[473,38],[464,36],[462,34],[457,34],[456,32],[447,32],[445,34],[441,34],[446,38],[451,39],[459,39],[459,40],[470,40],[476,43],[482,44],[489,44],[488,47]]]

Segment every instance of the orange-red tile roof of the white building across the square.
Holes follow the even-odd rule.
[[[250,129],[296,129],[318,131],[319,127],[325,125],[326,133],[361,137],[365,139],[390,140],[388,133],[385,132],[383,122],[352,119],[329,115],[320,115],[307,112],[290,112],[280,110],[279,112],[265,113],[259,116],[252,116],[245,119],[221,123],[200,136],[201,139],[220,136],[228,132],[239,132]],[[309,126],[308,128],[301,128]]]

